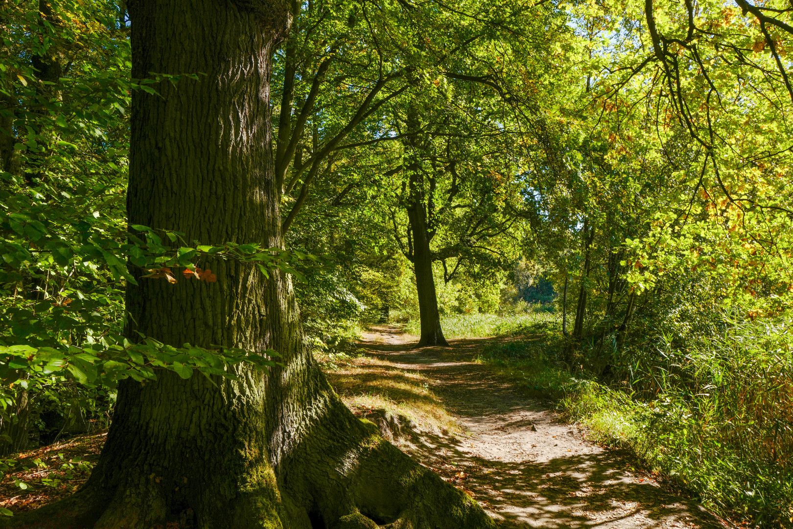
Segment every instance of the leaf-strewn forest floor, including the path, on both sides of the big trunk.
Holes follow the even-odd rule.
[[[473,361],[508,339],[421,349],[416,341],[400,327],[378,326],[363,333],[355,355],[319,360],[358,416],[473,496],[500,527],[730,527],[638,469],[630,454],[588,441],[559,420],[552,402]],[[22,512],[74,492],[105,435],[17,454],[0,480],[0,507]]]

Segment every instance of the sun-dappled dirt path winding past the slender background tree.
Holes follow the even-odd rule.
[[[695,501],[630,471],[624,454],[587,442],[547,404],[463,358],[487,340],[411,349],[412,337],[381,326],[363,335],[370,355],[419,370],[465,429],[460,439],[420,434],[401,447],[468,490],[500,527],[724,527]]]

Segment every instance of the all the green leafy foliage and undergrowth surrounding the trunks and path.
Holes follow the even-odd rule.
[[[127,225],[131,94],[202,76],[132,79],[123,4],[0,13],[9,450],[51,412],[105,419],[123,378],[273,365],[276,351],[126,335],[128,283],[215,282],[210,259],[281,270],[313,347],[335,355],[361,323],[419,332],[420,233],[447,337],[520,336],[481,361],[715,508],[787,523],[787,4],[294,3],[273,72],[290,250]]]

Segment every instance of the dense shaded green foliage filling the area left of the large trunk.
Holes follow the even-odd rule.
[[[121,332],[127,111],[130,90],[152,90],[129,79],[115,6],[53,3],[0,16],[4,452],[43,434],[45,412],[87,420],[109,405],[103,388],[75,389],[67,357]]]

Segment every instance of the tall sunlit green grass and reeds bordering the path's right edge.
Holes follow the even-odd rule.
[[[481,360],[559,397],[569,419],[629,448],[722,514],[793,527],[793,337],[787,324],[730,324],[685,346],[626,351],[609,383],[558,362],[561,339],[485,349]],[[645,341],[647,343],[647,341]]]

